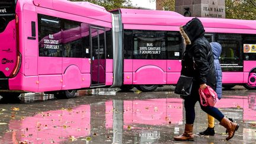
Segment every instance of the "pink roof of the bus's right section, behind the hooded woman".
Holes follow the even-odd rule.
[[[123,24],[133,25],[165,25],[180,26],[193,17],[184,17],[173,11],[157,11],[145,9],[120,9]],[[225,18],[199,18],[204,27],[208,28],[238,28],[256,30],[255,20],[234,20]]]

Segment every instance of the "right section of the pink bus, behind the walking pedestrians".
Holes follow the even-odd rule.
[[[175,85],[184,52],[179,27],[191,17],[172,11],[144,9],[117,9],[112,12],[116,21],[121,23],[119,36],[114,36],[119,47],[122,46],[119,53],[122,55],[119,62],[123,62],[119,67],[123,68],[121,88],[135,86],[141,91],[153,91],[161,85]],[[222,44],[223,87],[244,85],[247,89],[256,89],[256,21],[200,20],[206,30],[206,38]]]

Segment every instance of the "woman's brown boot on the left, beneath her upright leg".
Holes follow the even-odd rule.
[[[177,141],[194,140],[193,124],[185,124],[185,130],[183,135],[174,136],[174,140],[177,140]]]

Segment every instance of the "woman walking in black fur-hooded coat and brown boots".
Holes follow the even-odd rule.
[[[200,101],[199,88],[204,89],[207,85],[216,89],[215,65],[213,62],[212,48],[209,41],[204,37],[204,27],[198,18],[193,18],[187,24],[180,27],[180,33],[186,44],[183,60],[181,62],[181,75],[194,78],[191,95],[185,98],[185,130],[183,135],[175,136],[175,140],[193,140],[193,123],[195,119],[195,104]],[[199,103],[200,104],[200,103]],[[220,121],[220,125],[228,130],[229,140],[235,134],[239,125],[227,119],[217,108],[204,107],[201,109],[210,116]]]

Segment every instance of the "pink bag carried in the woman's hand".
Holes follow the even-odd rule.
[[[216,104],[217,94],[209,85],[207,85],[203,90],[199,88],[199,95],[201,105],[205,107],[207,105],[214,107]]]

